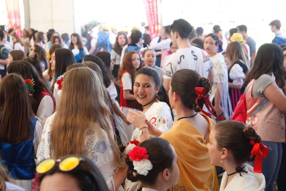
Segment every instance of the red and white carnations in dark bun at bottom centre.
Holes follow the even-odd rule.
[[[149,155],[145,148],[136,146],[128,153],[128,156],[133,161],[134,170],[137,171],[137,174],[146,176],[148,171],[152,170],[153,165],[148,160]]]

